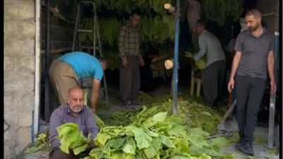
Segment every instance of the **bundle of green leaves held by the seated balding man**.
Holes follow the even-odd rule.
[[[65,123],[57,127],[58,139],[60,140],[60,150],[69,154],[69,150],[73,151],[74,155],[86,151],[88,143],[91,141],[83,136],[83,132],[79,131],[79,126],[74,123]]]

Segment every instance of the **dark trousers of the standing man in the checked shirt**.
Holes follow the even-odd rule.
[[[139,57],[127,56],[127,68],[120,68],[120,98],[123,102],[137,101],[141,79]]]

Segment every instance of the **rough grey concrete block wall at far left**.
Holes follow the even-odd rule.
[[[35,86],[35,3],[4,0],[4,158],[31,141]]]

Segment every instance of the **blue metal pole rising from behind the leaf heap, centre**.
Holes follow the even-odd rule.
[[[178,66],[179,66],[179,35],[180,35],[180,0],[177,0],[175,18],[175,47],[173,68],[173,114],[178,113]]]

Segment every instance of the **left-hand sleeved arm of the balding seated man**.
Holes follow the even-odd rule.
[[[53,148],[59,148],[61,143],[57,139],[57,127],[62,125],[62,119],[57,112],[53,112],[50,117],[50,144]]]

